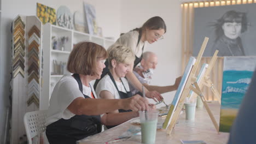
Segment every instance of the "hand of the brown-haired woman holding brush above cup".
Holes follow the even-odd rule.
[[[124,110],[145,111],[149,109],[148,100],[138,94],[131,98],[120,100],[122,100],[121,106],[123,106]]]

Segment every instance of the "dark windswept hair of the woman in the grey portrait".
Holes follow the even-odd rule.
[[[222,35],[224,34],[222,26],[225,22],[236,22],[241,23],[241,33],[247,31],[247,16],[246,13],[242,13],[240,11],[230,10],[227,11],[220,19],[217,20],[217,22],[214,22],[211,26],[215,28],[215,35],[217,41]]]

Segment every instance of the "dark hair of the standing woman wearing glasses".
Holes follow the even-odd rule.
[[[148,19],[140,28],[135,28],[132,31],[144,31],[148,29],[164,29],[166,33],[165,21],[160,16],[154,16]]]

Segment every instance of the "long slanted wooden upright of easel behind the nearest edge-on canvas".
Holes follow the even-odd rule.
[[[208,39],[209,38],[205,38],[205,40],[203,40],[203,44],[201,46],[201,49],[199,51],[199,54],[197,55],[197,58],[196,58],[196,62],[193,66],[193,68],[191,69],[191,72],[189,74],[189,77],[188,77],[188,80],[187,80],[187,83],[185,84],[185,87],[183,89],[183,92],[181,94],[181,97],[179,98],[179,101],[178,101],[178,105],[176,107],[176,110],[173,112],[173,116],[171,118],[171,123],[170,125],[168,125],[168,128],[166,130],[166,133],[168,135],[171,134],[171,131],[172,131],[172,128],[174,127],[174,125],[176,124],[177,122],[177,119],[179,117],[179,113],[181,112],[182,110],[182,107],[184,105],[184,102],[185,102],[185,99],[188,97],[191,89],[190,89],[190,86],[196,82],[196,77],[195,77],[195,73],[196,73],[196,70],[197,68],[199,67],[199,63],[201,61],[201,58],[202,58],[202,55],[203,55],[203,52],[205,51],[205,47],[207,45],[207,42],[208,42]]]

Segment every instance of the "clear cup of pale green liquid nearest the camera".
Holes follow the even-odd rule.
[[[141,140],[142,143],[155,143],[156,126],[158,124],[159,111],[139,111],[139,119],[141,120]]]

